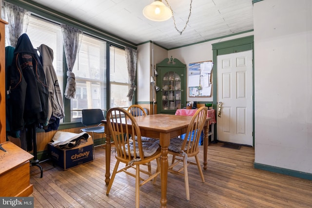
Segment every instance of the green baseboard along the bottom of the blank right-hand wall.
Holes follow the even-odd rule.
[[[274,166],[269,166],[269,165],[263,165],[263,164],[259,164],[259,163],[254,163],[254,168],[255,169],[261,169],[261,170],[267,170],[270,172],[281,173],[284,175],[290,175],[290,176],[297,177],[297,178],[312,180],[312,173],[308,173],[308,172],[301,172],[301,171],[297,171],[297,170],[284,169],[284,168],[279,168],[279,167],[274,167]]]

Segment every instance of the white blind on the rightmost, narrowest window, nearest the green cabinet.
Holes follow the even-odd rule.
[[[111,108],[131,105],[127,97],[130,86],[125,50],[110,46]]]

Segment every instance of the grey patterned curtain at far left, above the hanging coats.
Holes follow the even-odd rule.
[[[23,34],[23,26],[27,28],[30,12],[19,6],[3,1],[3,16],[8,24],[5,26],[5,36],[9,46],[16,47],[18,39]]]

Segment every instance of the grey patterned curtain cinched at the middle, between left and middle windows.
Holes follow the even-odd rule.
[[[79,40],[81,40],[82,37],[82,30],[65,24],[61,24],[61,30],[68,68],[67,83],[64,95],[67,99],[72,99],[75,98],[76,95],[76,81],[75,75],[73,73],[73,67],[79,50]]]

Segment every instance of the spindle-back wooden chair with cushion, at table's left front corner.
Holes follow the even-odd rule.
[[[116,146],[116,164],[109,181],[106,195],[114,182],[117,173],[125,172],[136,178],[136,208],[139,208],[140,187],[152,179],[156,179],[160,173],[160,148],[156,143],[147,143],[141,141],[141,132],[134,116],[122,108],[109,109],[106,116],[107,126]],[[136,137],[137,140],[130,140],[130,137]],[[154,174],[151,170],[140,169],[141,165],[156,160],[157,168]],[[124,163],[125,167],[119,169],[119,163]],[[131,172],[131,168],[136,171]],[[130,170],[130,171],[129,171]],[[140,172],[144,173],[145,178],[141,177]],[[153,182],[155,184],[155,180]]]

